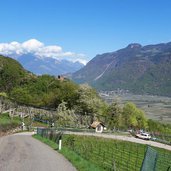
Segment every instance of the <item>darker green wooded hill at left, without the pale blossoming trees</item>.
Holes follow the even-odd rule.
[[[36,76],[17,61],[4,56],[0,56],[0,78],[0,92],[7,93],[18,103],[37,107],[56,107],[62,100],[71,106],[74,92],[78,89],[67,79]]]

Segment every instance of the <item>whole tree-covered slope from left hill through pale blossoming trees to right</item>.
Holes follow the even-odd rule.
[[[104,102],[90,86],[77,85],[63,77],[36,76],[13,59],[0,56],[0,95],[19,105],[55,111],[52,115],[39,114],[40,120],[55,122],[58,126],[86,126],[99,120],[107,128],[150,128],[145,113],[133,103],[120,106],[114,101]],[[0,101],[3,106],[3,101]],[[150,125],[149,125],[150,123]],[[163,126],[159,129],[162,129]],[[150,129],[156,129],[153,126]]]

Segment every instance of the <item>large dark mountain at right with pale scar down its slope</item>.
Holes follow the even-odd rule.
[[[132,43],[97,55],[72,79],[98,90],[119,88],[136,94],[171,96],[171,42],[147,46]]]

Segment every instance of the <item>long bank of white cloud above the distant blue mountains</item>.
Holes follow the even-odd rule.
[[[56,58],[56,59],[67,59],[73,62],[79,61],[86,64],[86,56],[84,54],[77,54],[74,52],[63,52],[62,47],[57,45],[45,46],[44,43],[30,39],[23,43],[10,42],[0,43],[0,54],[9,57],[17,58],[24,54],[33,54],[37,57],[44,58]]]

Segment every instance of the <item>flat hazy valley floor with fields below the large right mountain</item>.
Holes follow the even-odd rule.
[[[124,104],[128,101],[135,103],[143,109],[149,119],[163,123],[171,123],[171,98],[152,95],[133,95],[133,94],[109,94],[102,96],[107,102],[113,100]]]

